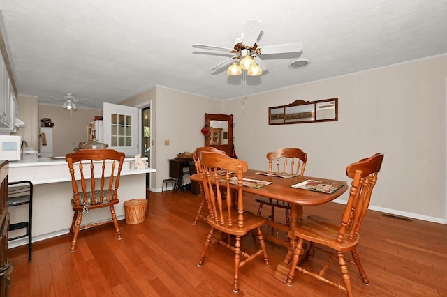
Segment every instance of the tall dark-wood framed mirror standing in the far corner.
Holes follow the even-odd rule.
[[[225,151],[233,155],[233,114],[205,114],[205,146]]]

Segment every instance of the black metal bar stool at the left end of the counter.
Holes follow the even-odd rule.
[[[13,185],[13,187],[11,187]],[[28,204],[28,220],[9,225],[9,231],[26,229],[25,234],[8,238],[8,241],[28,236],[28,261],[32,260],[32,223],[33,223],[33,183],[31,181],[14,181],[8,183],[8,207]]]

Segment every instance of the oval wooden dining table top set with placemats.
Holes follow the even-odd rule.
[[[336,181],[328,178],[318,178],[314,176],[295,176],[293,178],[281,178],[277,176],[255,174],[256,172],[262,171],[248,169],[247,172],[244,172],[244,178],[256,179],[260,181],[270,181],[272,183],[261,188],[242,187],[242,191],[262,197],[286,201],[291,204],[300,206],[315,206],[325,204],[336,199],[337,197],[340,197],[344,192],[346,192],[346,190],[348,190],[346,181]],[[193,181],[201,181],[201,179],[202,178],[200,177],[200,174],[193,174],[191,176],[191,180]],[[324,181],[328,183],[336,183],[343,186],[332,194],[328,194],[325,192],[316,192],[312,190],[302,190],[291,187],[291,185],[306,181],[307,179]],[[237,188],[236,185],[234,185],[234,187]]]

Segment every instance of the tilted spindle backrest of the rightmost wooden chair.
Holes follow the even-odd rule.
[[[360,233],[382,160],[383,154],[376,153],[346,167],[346,175],[352,178],[352,183],[337,234],[337,243],[353,241]]]

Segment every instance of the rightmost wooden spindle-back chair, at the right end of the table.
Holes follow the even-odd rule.
[[[370,158],[362,159],[346,167],[346,175],[352,178],[352,183],[349,191],[349,199],[342,213],[341,222],[330,222],[324,218],[318,218],[312,215],[305,218],[302,224],[295,227],[293,235],[298,237],[298,244],[295,248],[291,270],[288,273],[286,282],[288,285],[293,283],[295,271],[298,270],[302,273],[312,275],[318,280],[332,284],[337,289],[346,291],[348,296],[353,296],[344,252],[351,252],[353,260],[349,262],[357,265],[363,283],[369,284],[366,273],[360,264],[356,247],[360,241],[360,227],[368,210],[372,190],[376,184],[377,174],[380,170],[382,160],[383,154],[376,153]],[[289,234],[289,236],[292,236],[292,234]],[[301,266],[297,266],[299,255],[302,254],[304,241],[310,241],[309,259],[313,258],[315,249],[323,250],[323,248],[316,247],[315,243],[336,251],[334,253],[323,250],[330,254],[330,259],[325,262],[319,273],[306,271]],[[339,284],[339,282],[333,282],[324,277],[325,272],[329,268],[330,261],[335,258],[338,259],[340,271],[342,271],[344,286]]]

